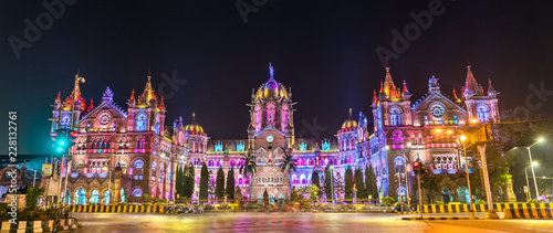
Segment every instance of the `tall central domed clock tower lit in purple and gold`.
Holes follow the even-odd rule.
[[[292,153],[294,139],[293,105],[291,89],[273,77],[274,68],[269,64],[270,78],[257,92],[252,91],[250,126],[248,127],[248,151],[255,157],[258,172],[253,174],[250,200],[262,200],[267,190],[269,199],[290,199],[290,173],[281,171],[284,155]]]

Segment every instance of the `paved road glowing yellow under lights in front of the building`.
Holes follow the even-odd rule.
[[[405,215],[368,213],[72,215],[79,219],[81,225],[72,232],[553,232],[551,220],[405,221],[400,220]]]

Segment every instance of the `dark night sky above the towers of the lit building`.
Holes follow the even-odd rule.
[[[48,0],[52,1],[52,0]],[[70,0],[66,0],[69,3]],[[74,1],[74,0],[73,0]],[[180,3],[179,3],[180,2]],[[237,2],[252,9],[247,23]],[[76,1],[43,25],[18,59],[11,41],[27,41],[25,19],[44,17],[40,1],[3,1],[0,9],[0,155],[8,152],[8,112],[18,112],[20,155],[50,153],[51,105],[58,92],[67,96],[77,67],[86,78],[83,96],[95,105],[106,86],[126,108],[133,88],[142,93],[148,66],[157,89],[176,71],[186,80],[166,99],[167,124],[196,112],[212,139],[246,138],[251,89],[274,77],[292,87],[296,135],[333,137],[352,107],[371,118],[373,89],[385,70],[376,47],[393,51],[392,30],[404,34],[415,20],[409,12],[429,11],[431,1]],[[434,1],[432,1],[434,2]],[[437,1],[439,4],[440,1]],[[529,85],[553,91],[553,2],[442,1],[441,13],[406,51],[390,57],[396,85],[407,82],[417,100],[431,75],[441,89],[463,85],[467,60],[477,81],[492,78],[500,109],[544,102],[535,113],[551,117],[553,95],[542,99]],[[430,7],[432,8],[432,7]],[[59,10],[59,8],[56,8]],[[46,15],[48,17],[48,15]],[[44,18],[48,19],[48,18]],[[48,21],[43,21],[48,23]],[[27,43],[27,42],[25,42]],[[171,89],[167,88],[167,93]],[[88,103],[86,103],[88,105]],[[320,134],[320,135],[319,135]]]

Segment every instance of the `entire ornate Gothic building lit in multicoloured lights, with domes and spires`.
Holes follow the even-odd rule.
[[[484,93],[469,66],[461,97],[455,89],[453,98],[446,96],[438,78],[432,76],[428,81],[428,93],[411,102],[407,84],[396,87],[386,68],[380,91],[373,96],[373,127],[363,113],[355,119],[349,110],[335,138],[296,138],[292,91],[275,81],[270,65],[269,80],[252,91],[248,104],[250,123],[244,126],[248,134],[241,139],[211,139],[195,115],[187,120],[189,124],[185,125],[179,117],[173,127],[166,127],[164,99],[155,95],[150,76],[139,96],[135,98],[133,91],[126,110],[113,102],[109,88],[97,106],[91,100],[85,108],[76,83],[65,104],[61,103],[60,95],[54,102],[52,113],[56,121],[52,123],[52,133],[71,125],[74,109],[77,135],[67,166],[71,198],[67,201],[76,204],[106,202],[109,186],[113,202],[138,202],[144,194],[173,200],[175,169],[185,165],[195,166],[192,200],[197,200],[204,162],[210,173],[210,184],[216,182],[217,169],[222,167],[227,174],[233,168],[236,184],[246,199],[260,201],[267,190],[270,201],[276,202],[288,201],[291,188],[311,184],[313,170],[320,171],[324,187],[326,166],[332,165],[334,174],[343,179],[347,167],[365,172],[369,161],[376,172],[380,198],[389,195],[405,201],[406,173],[409,186],[416,184],[410,171],[416,159],[436,174],[459,173],[465,161],[460,158],[457,138],[467,126],[499,123],[498,94],[491,82]],[[74,106],[72,99],[77,99]],[[279,168],[286,153],[293,156],[296,171]],[[258,172],[253,176],[243,177],[238,172],[244,155],[255,156]],[[111,183],[109,172],[114,176]],[[440,187],[449,199],[447,202],[467,202],[462,180],[447,178],[440,181]],[[413,187],[409,191],[415,197]],[[344,198],[343,192],[336,195]],[[213,193],[209,197],[215,200]]]

